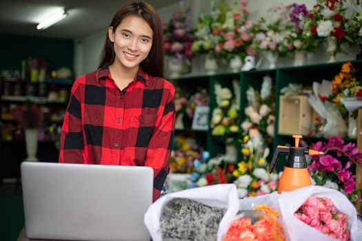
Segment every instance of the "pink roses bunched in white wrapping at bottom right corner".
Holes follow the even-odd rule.
[[[294,216],[331,238],[350,240],[348,218],[334,207],[330,198],[312,196],[305,200]]]

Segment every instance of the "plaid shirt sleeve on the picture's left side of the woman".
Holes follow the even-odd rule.
[[[61,129],[59,163],[84,163],[81,88],[74,82]]]

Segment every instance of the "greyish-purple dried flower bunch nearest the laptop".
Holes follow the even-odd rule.
[[[210,207],[187,198],[174,198],[161,211],[163,241],[217,240],[226,209]]]

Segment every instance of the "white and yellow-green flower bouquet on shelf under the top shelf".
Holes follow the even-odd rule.
[[[234,96],[228,87],[221,87],[219,83],[214,85],[217,107],[212,111],[210,127],[212,137],[225,145],[235,143],[239,133],[239,81],[232,81]]]

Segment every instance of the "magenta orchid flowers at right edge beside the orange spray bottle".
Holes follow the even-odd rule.
[[[354,143],[345,143],[339,136],[328,138],[326,142],[312,144],[312,149],[323,151],[323,156],[313,156],[308,166],[315,185],[329,187],[345,193],[351,202],[355,202],[356,176],[352,170],[356,164],[362,164],[362,154]]]

